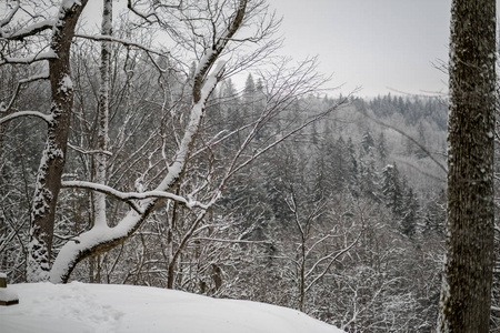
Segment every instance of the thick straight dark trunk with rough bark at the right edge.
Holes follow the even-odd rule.
[[[488,332],[493,268],[496,1],[454,0],[448,129],[448,255],[440,332]]]

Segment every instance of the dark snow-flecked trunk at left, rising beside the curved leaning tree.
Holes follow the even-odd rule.
[[[52,121],[48,124],[46,147],[37,174],[34,199],[31,211],[30,243],[28,246],[27,280],[49,279],[50,258],[56,218],[56,204],[61,188],[61,175],[66,162],[70,113],[73,105],[73,89],[70,78],[70,49],[74,27],[87,4],[63,2],[53,28],[50,43],[57,58],[49,61],[52,90]]]

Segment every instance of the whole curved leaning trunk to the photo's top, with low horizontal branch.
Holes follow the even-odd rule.
[[[188,159],[194,147],[196,137],[201,127],[207,101],[224,73],[224,61],[219,61],[217,65],[214,64],[227,43],[226,38],[231,38],[241,26],[247,1],[248,0],[239,0],[240,7],[234,14],[234,20],[229,24],[228,33],[223,34],[224,39],[216,41],[213,46],[216,49],[214,52],[212,52],[210,57],[203,58],[198,65],[197,73],[193,78],[192,104],[188,124],[184,128],[182,139],[172,162],[168,165],[167,174],[153,191],[120,192],[110,186],[90,182],[62,182],[62,186],[66,188],[80,186],[113,195],[119,200],[128,202],[132,209],[116,226],[109,228],[107,224],[96,224],[91,230],[83,232],[77,239],[68,241],[60,250],[50,271],[50,280],[52,282],[60,283],[68,281],[78,262],[86,258],[104,253],[123,243],[123,241],[130,238],[148,219],[149,214],[151,214],[151,212],[153,212],[164,200],[173,200],[186,204],[188,208],[198,206],[201,209],[198,212],[191,229],[184,234],[184,238],[179,244],[179,249],[182,249],[188,244],[190,238],[204,219],[209,208],[220,198],[220,190],[216,190],[209,202],[206,204],[191,200],[189,195],[188,199],[186,199],[169,193],[169,191],[182,178],[182,174],[186,171]],[[180,252],[178,251],[176,255],[179,255],[179,253]]]

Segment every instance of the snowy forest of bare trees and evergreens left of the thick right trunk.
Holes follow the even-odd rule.
[[[112,2],[98,23],[79,20],[86,0],[0,4],[9,281],[157,286],[346,332],[433,332],[447,98],[324,89],[316,58],[273,56],[280,20],[264,1],[129,0],[118,16]]]

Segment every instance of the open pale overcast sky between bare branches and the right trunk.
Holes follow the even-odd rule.
[[[451,0],[270,0],[286,38],[281,52],[318,54],[342,93],[446,92]]]

